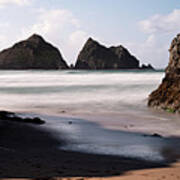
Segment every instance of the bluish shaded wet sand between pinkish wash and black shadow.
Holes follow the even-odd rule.
[[[137,126],[126,124],[123,127],[120,126],[119,129],[111,129],[99,123],[99,120],[101,121],[104,116],[96,117],[96,121],[80,116],[61,116],[60,114],[52,116],[20,113],[19,116],[45,119],[46,124],[41,126],[42,129],[38,126],[34,126],[34,128],[37,127],[37,130],[41,129],[47,132],[58,141],[63,140],[65,143],[62,146],[57,145],[57,147],[64,151],[120,156],[158,163],[169,163],[180,159],[180,152],[178,151],[180,136],[168,136],[156,130],[138,131],[136,128],[139,124],[136,124],[136,121]],[[108,118],[108,120],[110,119]]]

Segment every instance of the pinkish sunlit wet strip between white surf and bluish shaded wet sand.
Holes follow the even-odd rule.
[[[10,111],[13,111],[10,110]],[[168,112],[157,111],[150,109],[149,115],[141,115],[141,114],[129,114],[127,112],[120,112],[120,113],[107,113],[107,112],[100,112],[92,113],[87,112],[70,112],[65,109],[60,110],[59,112],[56,111],[42,111],[42,110],[31,110],[31,111],[15,111],[17,114],[28,114],[33,115],[32,117],[46,117],[46,116],[56,116],[56,117],[63,117],[63,118],[80,118],[85,119],[89,122],[95,122],[102,126],[102,128],[109,129],[109,130],[120,130],[120,131],[127,131],[132,133],[144,133],[144,134],[160,134],[163,137],[179,137],[180,131],[177,128],[180,125],[179,115],[174,115]],[[157,117],[161,117],[159,120]],[[25,116],[26,117],[26,116]],[[167,118],[168,117],[168,118]],[[97,121],[98,119],[98,121]],[[171,122],[170,120],[171,119]],[[169,123],[169,124],[168,124]]]

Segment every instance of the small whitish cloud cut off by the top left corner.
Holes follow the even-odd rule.
[[[0,0],[0,7],[3,8],[8,5],[24,6],[28,5],[31,0]]]

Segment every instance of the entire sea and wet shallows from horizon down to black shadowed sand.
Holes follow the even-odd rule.
[[[43,128],[67,141],[63,150],[177,160],[180,116],[147,107],[164,75],[163,70],[0,71],[0,109],[45,119]]]

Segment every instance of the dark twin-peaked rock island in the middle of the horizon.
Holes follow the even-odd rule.
[[[123,46],[107,48],[89,38],[75,69],[138,69],[139,61]]]

